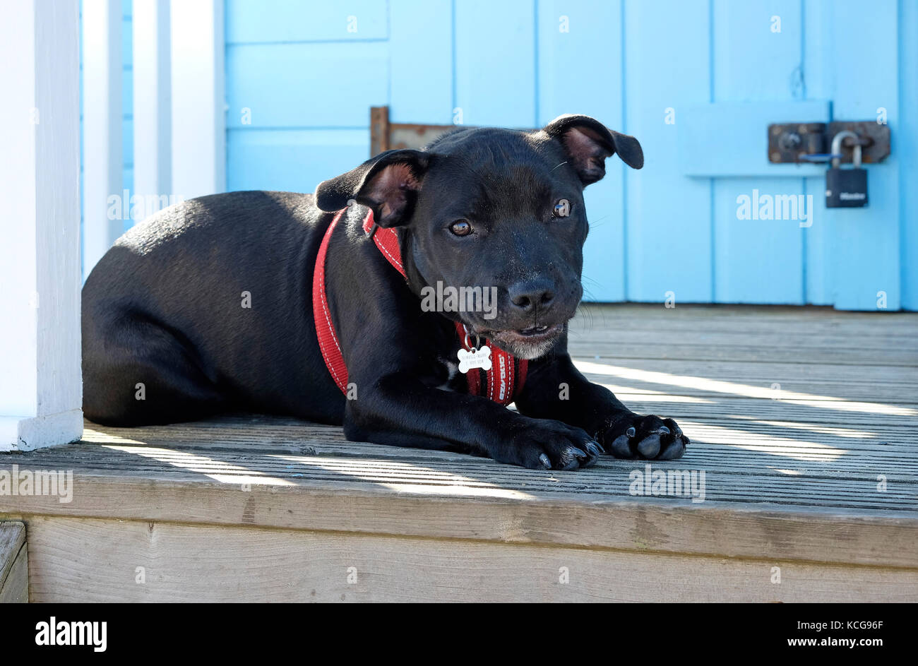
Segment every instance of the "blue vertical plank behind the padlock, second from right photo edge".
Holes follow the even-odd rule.
[[[826,223],[833,230],[834,306],[839,310],[877,310],[877,294],[884,292],[887,309],[898,310],[901,197],[900,153],[895,141],[903,120],[895,39],[898,5],[895,0],[877,0],[870,5],[869,20],[852,20],[860,16],[863,8],[853,0],[838,0],[827,7],[830,17],[826,26],[831,30],[827,43],[834,68],[834,119],[876,119],[877,109],[886,108],[893,151],[885,162],[868,165],[867,209],[830,209],[826,213]],[[852,49],[855,43],[870,47]]]

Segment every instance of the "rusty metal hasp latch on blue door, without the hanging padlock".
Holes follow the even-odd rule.
[[[839,132],[854,132],[842,141],[839,158],[843,164],[854,161],[855,144],[861,148],[863,164],[877,164],[890,154],[890,126],[876,120],[824,122],[785,122],[768,125],[768,162],[771,164],[807,164],[830,162],[835,158],[831,148]]]

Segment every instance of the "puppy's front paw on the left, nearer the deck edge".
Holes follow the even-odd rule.
[[[587,431],[560,421],[533,421],[510,437],[509,446],[494,457],[500,462],[530,469],[588,468],[596,463],[602,446]]]

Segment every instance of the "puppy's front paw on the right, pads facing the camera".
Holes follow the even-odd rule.
[[[599,442],[614,457],[675,460],[686,452],[689,437],[672,419],[632,414],[601,431]]]

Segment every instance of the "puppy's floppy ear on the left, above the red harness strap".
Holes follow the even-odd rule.
[[[380,152],[356,169],[319,183],[316,205],[333,212],[353,199],[373,209],[380,227],[395,227],[411,217],[430,160],[428,152]]]

